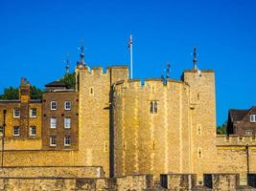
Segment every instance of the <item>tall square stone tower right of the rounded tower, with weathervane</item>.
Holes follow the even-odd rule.
[[[215,73],[200,71],[196,55],[194,52],[194,68],[185,71],[182,79],[190,86],[191,172],[201,181],[203,173],[215,169],[216,96]]]

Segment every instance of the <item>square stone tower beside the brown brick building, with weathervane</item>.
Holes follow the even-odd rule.
[[[81,165],[103,166],[109,176],[111,90],[116,81],[128,79],[128,67],[109,67],[105,73],[101,67],[90,70],[81,53],[75,72],[80,105],[78,160]]]

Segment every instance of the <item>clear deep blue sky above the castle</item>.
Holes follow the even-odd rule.
[[[40,88],[79,59],[84,39],[89,66],[127,64],[133,34],[134,77],[159,77],[166,62],[173,78],[198,67],[216,72],[217,118],[229,108],[256,105],[254,0],[1,0],[0,93],[26,76]]]

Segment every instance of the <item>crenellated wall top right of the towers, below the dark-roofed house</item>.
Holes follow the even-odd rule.
[[[255,136],[238,136],[238,135],[230,135],[226,137],[224,135],[217,136],[216,138],[216,146],[255,146],[256,147],[256,139]]]

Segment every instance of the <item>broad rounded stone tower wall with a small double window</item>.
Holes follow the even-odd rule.
[[[151,114],[151,101],[157,113]],[[189,171],[189,86],[149,79],[114,92],[115,176]]]

